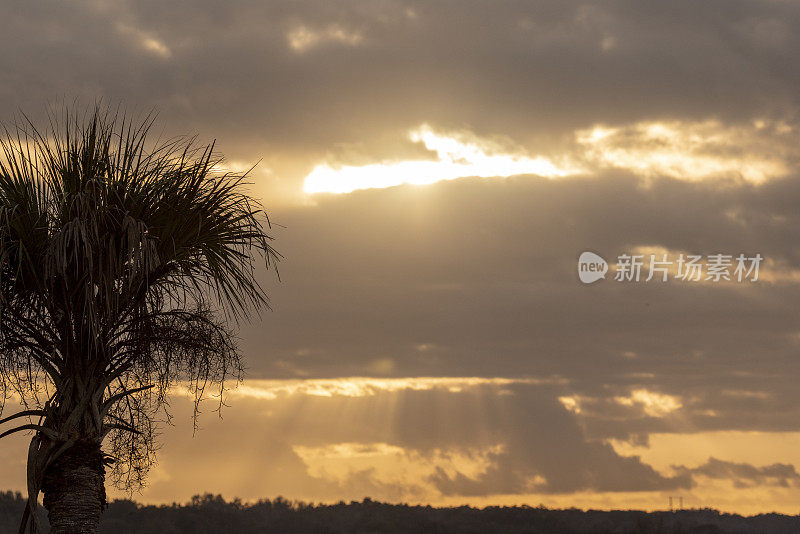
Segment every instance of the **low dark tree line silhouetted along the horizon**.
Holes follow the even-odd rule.
[[[0,532],[13,532],[26,500],[0,492]],[[44,511],[40,521],[47,524]],[[716,510],[676,512],[637,510],[551,510],[510,506],[434,508],[386,504],[365,498],[337,504],[313,504],[278,497],[244,503],[219,495],[193,497],[185,504],[141,505],[132,500],[109,504],[100,521],[108,534],[664,534],[796,533],[800,516],[761,514],[743,517]]]

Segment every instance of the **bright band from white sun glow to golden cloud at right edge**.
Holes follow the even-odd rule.
[[[719,121],[644,121],[622,126],[595,124],[574,134],[572,147],[531,157],[468,131],[442,132],[427,124],[408,139],[436,154],[431,160],[384,161],[367,165],[322,163],[309,173],[307,194],[349,193],[402,184],[425,185],[466,177],[532,174],[560,178],[615,168],[642,178],[681,180],[740,177],[760,184],[790,169],[796,132],[780,121],[744,125]]]

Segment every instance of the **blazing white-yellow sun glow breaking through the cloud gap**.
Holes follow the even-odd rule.
[[[441,180],[535,174],[556,178],[576,169],[521,153],[500,152],[489,141],[463,134],[445,135],[423,125],[409,132],[409,139],[436,153],[433,160],[406,160],[363,166],[318,165],[306,177],[306,193],[349,193],[357,189],[385,188],[401,184],[424,185]]]

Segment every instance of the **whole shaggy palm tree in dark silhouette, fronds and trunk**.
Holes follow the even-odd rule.
[[[211,388],[221,408],[242,373],[233,326],[267,304],[256,261],[279,255],[213,144],[153,143],[152,115],[49,117],[0,141],[0,399],[24,405],[0,437],[33,433],[20,533],[41,529],[40,492],[51,532],[94,533],[106,468],[141,484],[171,390],[195,422]]]

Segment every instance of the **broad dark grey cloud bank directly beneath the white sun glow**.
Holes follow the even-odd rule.
[[[798,183],[519,177],[320,197],[276,214],[287,259],[278,311],[244,330],[251,373],[560,376],[601,437],[674,428],[614,400],[637,388],[679,397],[704,429],[795,429]],[[640,246],[760,253],[789,278],[577,280],[581,251]]]

